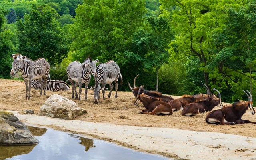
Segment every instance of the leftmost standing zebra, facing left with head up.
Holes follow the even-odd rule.
[[[12,70],[10,72],[11,76],[14,76],[16,72],[20,71],[22,74],[22,78],[24,79],[26,85],[26,96],[25,98],[30,99],[30,90],[32,80],[38,79],[41,85],[44,88],[44,95],[46,95],[46,81],[50,72],[50,64],[44,59],[39,58],[36,61],[27,60],[26,56],[22,58],[18,58],[15,54],[12,55]],[[42,82],[44,79],[44,83]],[[40,95],[42,95],[42,90]]]

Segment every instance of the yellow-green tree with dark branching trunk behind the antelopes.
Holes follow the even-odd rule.
[[[226,26],[227,8],[237,8],[243,4],[243,1],[239,4],[234,0],[218,3],[210,0],[160,0],[160,2],[162,2],[162,12],[170,17],[175,31],[175,40],[170,43],[169,50],[174,55],[172,57],[183,54],[186,57],[198,58],[197,68],[204,74],[204,83],[207,86],[215,85],[223,72],[224,63],[220,59],[212,63],[223,48],[223,43],[216,43],[214,35],[219,35]]]

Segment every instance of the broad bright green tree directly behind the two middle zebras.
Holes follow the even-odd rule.
[[[144,9],[143,0],[85,0],[70,30],[74,59],[83,61],[90,55],[104,62],[128,50]]]

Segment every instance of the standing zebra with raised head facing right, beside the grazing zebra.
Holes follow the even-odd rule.
[[[96,63],[99,62],[99,60],[92,60],[90,56],[84,60],[84,62],[81,64],[78,61],[71,62],[67,67],[67,75],[69,82],[71,84],[72,88],[72,98],[74,98],[74,92],[75,96],[77,98],[77,92],[76,87],[79,85],[79,97],[78,100],[80,100],[80,95],[82,92],[82,84],[85,83],[85,100],[87,99],[87,88],[88,84],[91,79],[91,74],[96,78],[97,72],[96,72]],[[74,83],[75,82],[75,83]]]

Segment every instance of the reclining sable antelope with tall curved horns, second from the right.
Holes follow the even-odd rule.
[[[203,84],[207,89],[208,97],[204,100],[200,100],[198,102],[189,103],[186,106],[184,106],[184,109],[182,110],[181,114],[183,116],[195,116],[196,114],[211,111],[215,106],[222,108],[223,105],[221,103],[221,96],[220,92],[213,88],[216,92],[218,92],[219,98],[215,98],[211,93],[209,88]]]

